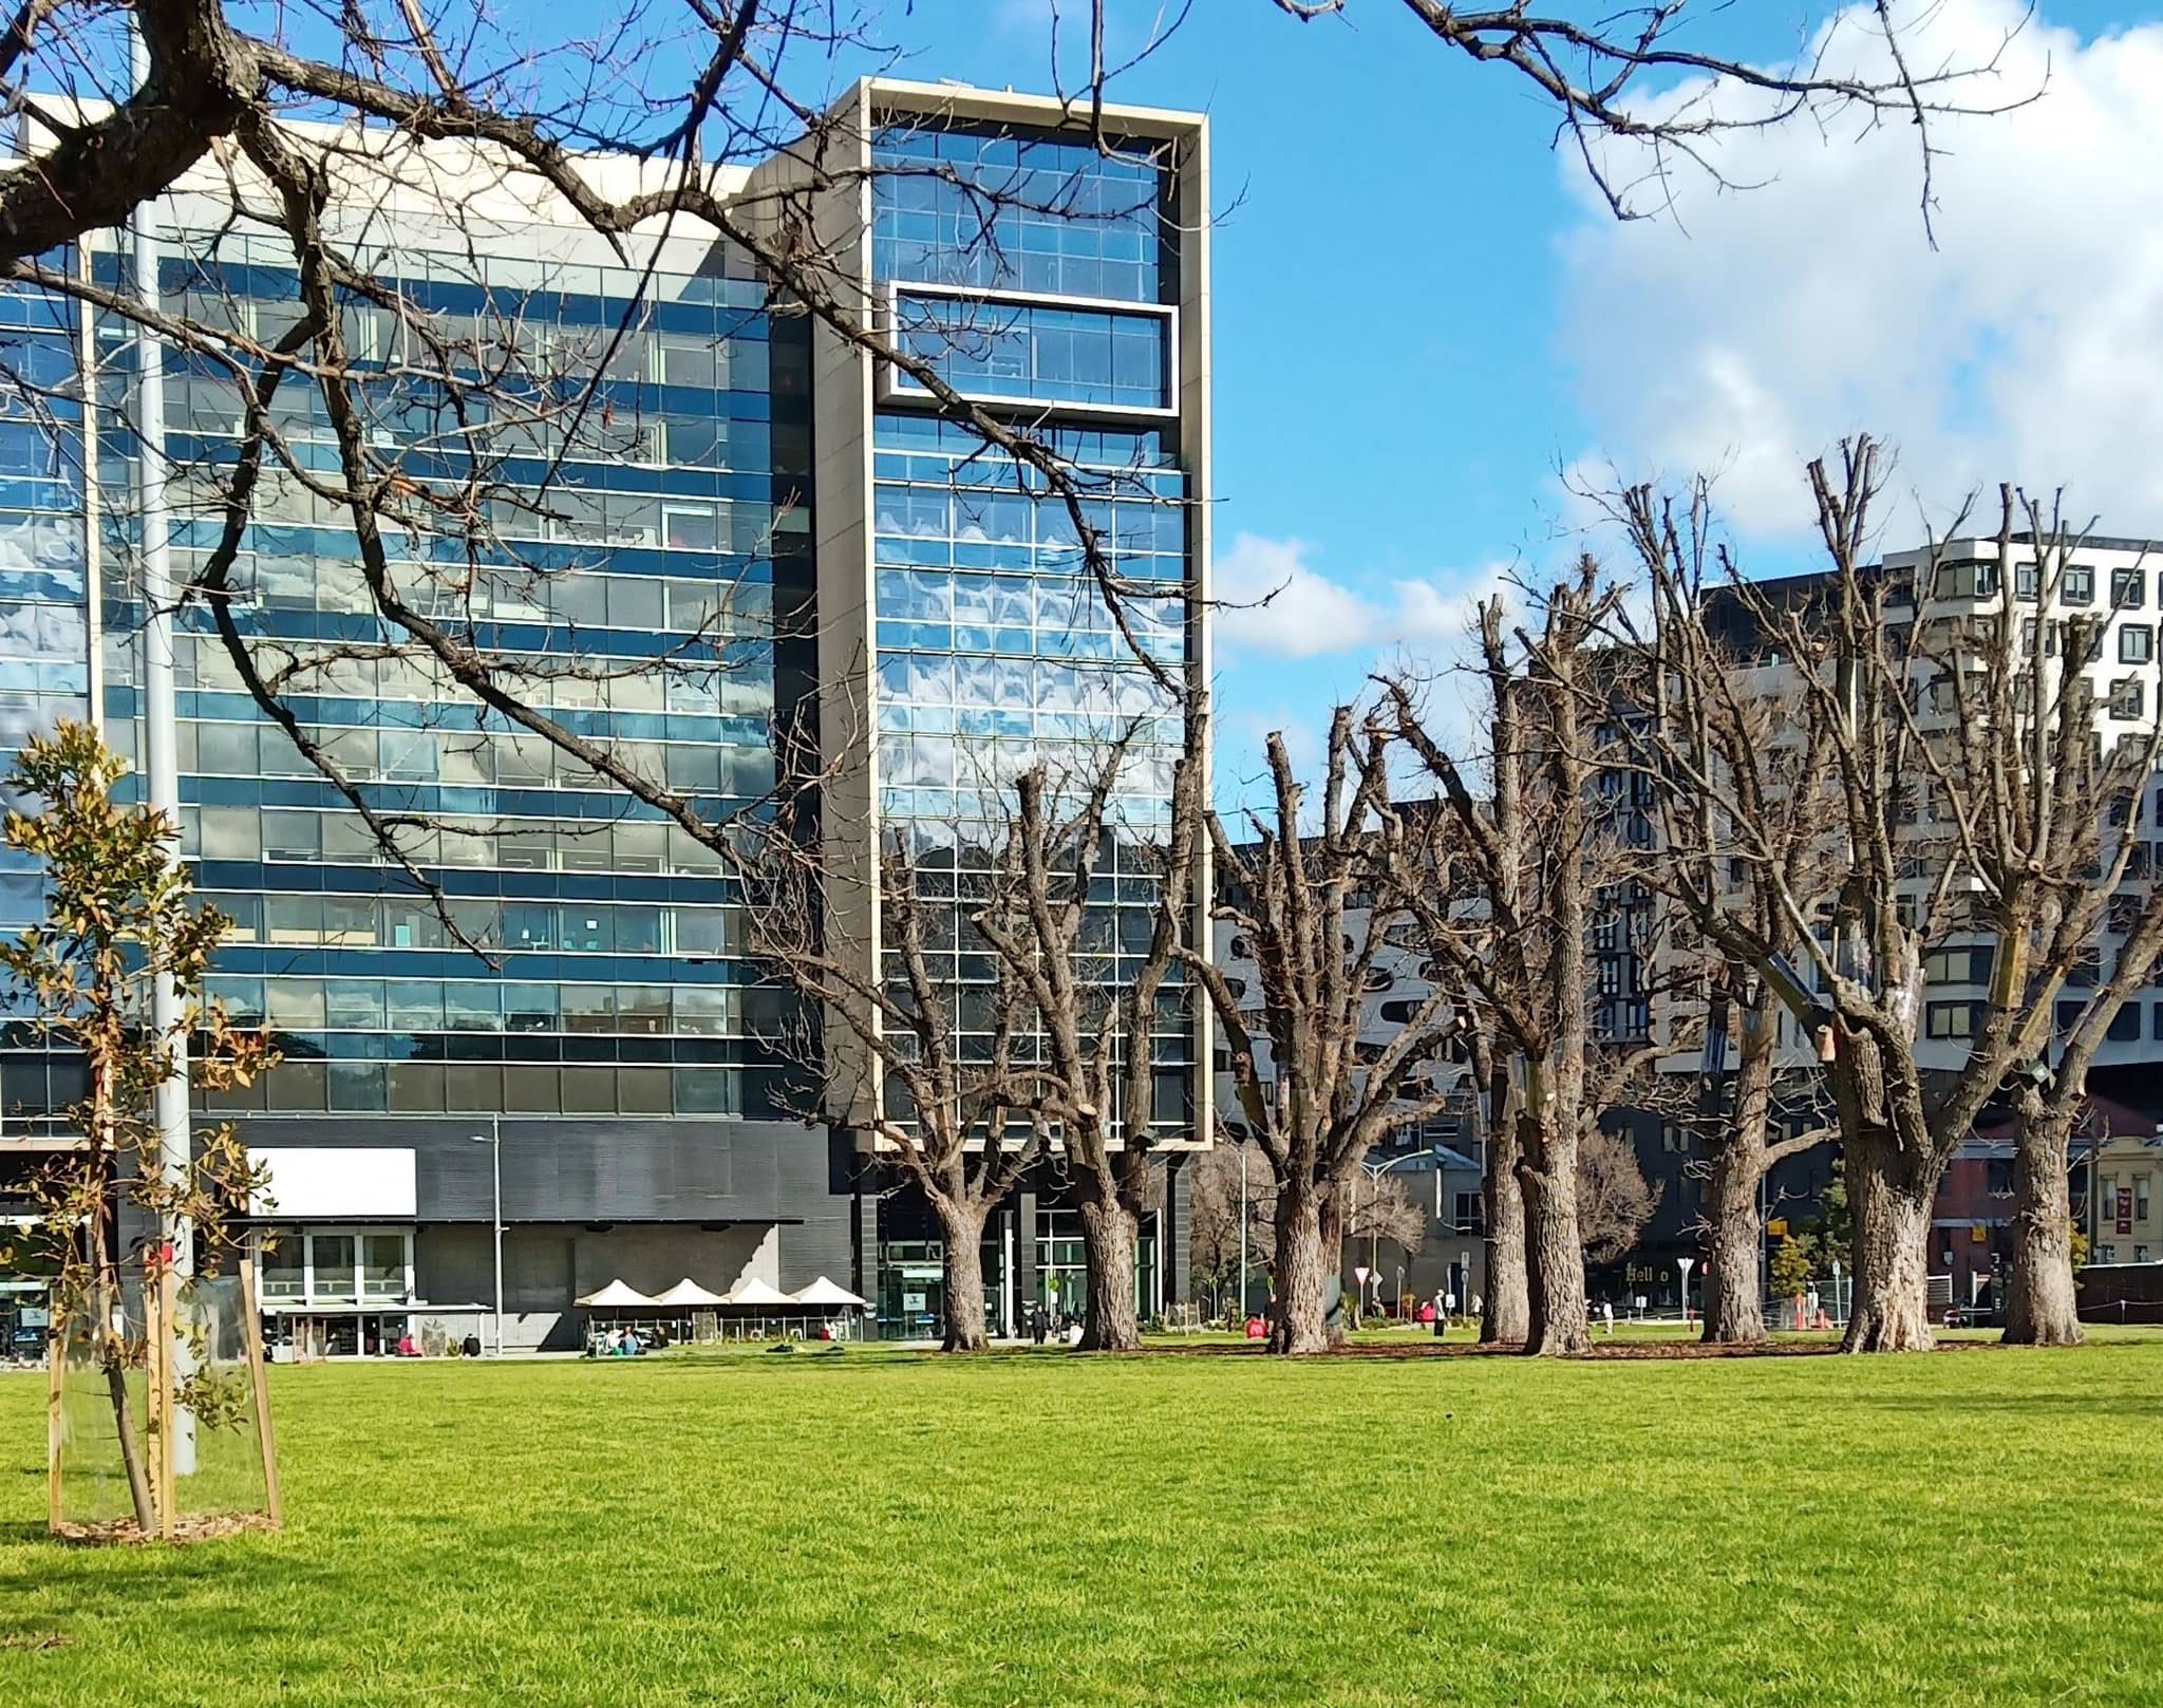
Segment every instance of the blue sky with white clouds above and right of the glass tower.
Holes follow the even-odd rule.
[[[2163,534],[2163,0],[2044,0],[1990,86],[2042,99],[1940,130],[1936,251],[1899,128],[1748,138],[1730,164],[1763,188],[1685,184],[1674,218],[1618,227],[1529,91],[1395,0],[1348,11],[1196,0],[1116,86],[1211,115],[1220,586],[1293,584],[1220,625],[1226,780],[1268,726],[1311,750],[1378,659],[1449,655],[1505,566],[1598,547],[1566,467],[1722,471],[1761,566],[1804,549],[1800,456],[1856,428],[1899,448],[1888,528],[1910,536],[1999,478],[2070,482],[2109,532]],[[1750,0],[1696,41],[1776,61],[1828,11]],[[2018,19],[1927,11],[1923,52],[1970,63]],[[883,13],[900,71],[1017,89],[1051,82],[1049,17]],[[1114,56],[1155,17],[1116,4]]]

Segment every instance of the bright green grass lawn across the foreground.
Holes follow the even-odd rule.
[[[290,1524],[43,1539],[0,1704],[2154,1704],[2163,1338],[273,1371]]]

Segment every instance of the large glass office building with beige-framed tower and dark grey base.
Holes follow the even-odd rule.
[[[1133,147],[1105,158],[1051,136],[1047,102],[969,99],[956,117],[952,89],[863,84],[837,108],[876,166],[861,283],[889,294],[900,344],[1040,419],[1088,471],[1120,573],[1164,590],[1131,601],[1142,646],[1190,670],[1203,316],[1170,233],[1200,205],[1198,121],[1138,115]],[[1010,199],[993,244],[924,195],[926,158]],[[777,156],[735,182],[787,171]],[[452,651],[707,824],[766,811],[777,755],[800,752],[781,731],[813,724],[818,763],[846,746],[876,770],[861,813],[824,809],[859,848],[893,819],[969,843],[971,789],[1010,755],[1129,724],[1123,813],[1138,835],[1162,822],[1177,707],[1125,657],[1062,506],[988,469],[885,363],[835,361],[712,236],[619,257],[487,177],[452,201],[394,182],[346,233],[387,290],[342,311],[385,476],[381,575]],[[164,307],[257,348],[298,322],[283,236],[231,218],[221,182],[184,184],[156,225]],[[121,233],[69,264],[134,285]],[[15,372],[52,381],[41,413],[0,409],[0,744],[95,707],[141,755],[136,337],[11,292],[0,339]],[[309,480],[337,469],[316,385],[273,396],[281,448],[236,534],[231,370],[167,350],[160,391],[173,579],[229,553],[216,599],[260,677],[221,608],[180,610],[184,854],[236,921],[212,995],[286,1057],[199,1113],[238,1120],[270,1167],[264,1215],[290,1237],[262,1286],[296,1340],[485,1325],[497,1215],[513,1347],[565,1345],[571,1302],[619,1276],[833,1276],[872,1295],[891,1183],[848,1122],[807,1124],[785,1044],[809,1020],[746,958],[720,856],[379,616],[370,543]],[[852,452],[863,478],[828,482]],[[857,672],[876,713],[826,713]],[[1112,975],[1146,943],[1146,882],[1118,854],[1107,880]],[[0,865],[0,906],[35,917],[35,873]],[[1164,1029],[1159,1105],[1196,1118],[1192,1023],[1168,1010]],[[0,1053],[6,1120],[74,1096],[69,1072]]]

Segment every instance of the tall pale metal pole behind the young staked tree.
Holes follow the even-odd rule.
[[[130,15],[128,65],[134,86],[149,82],[149,48]],[[158,307],[158,238],[151,203],[134,210],[134,290],[136,301]],[[171,519],[164,495],[164,346],[143,322],[136,324],[136,512],[143,528],[143,791],[154,813],[180,826],[180,735],[173,709],[173,564]],[[177,854],[175,854],[177,858]],[[149,1020],[158,1044],[171,1053],[167,1075],[151,1096],[158,1122],[158,1161],[171,1185],[182,1185],[193,1161],[188,1144],[188,1033],[182,1025],[180,984],[160,973],[151,984]],[[167,1215],[160,1228],[167,1260],[177,1291],[195,1276],[195,1226],[184,1215]],[[171,1325],[162,1327],[171,1334]],[[173,1382],[186,1386],[193,1375],[193,1353],[184,1340],[173,1345]],[[177,1475],[195,1472],[195,1414],[173,1407],[171,1466]]]

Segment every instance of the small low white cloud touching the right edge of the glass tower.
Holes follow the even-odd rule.
[[[1235,655],[1328,657],[1393,646],[1456,649],[1475,603],[1501,584],[1501,569],[1454,582],[1391,582],[1361,592],[1315,569],[1306,541],[1239,534],[1218,553],[1211,592],[1216,633]]]

